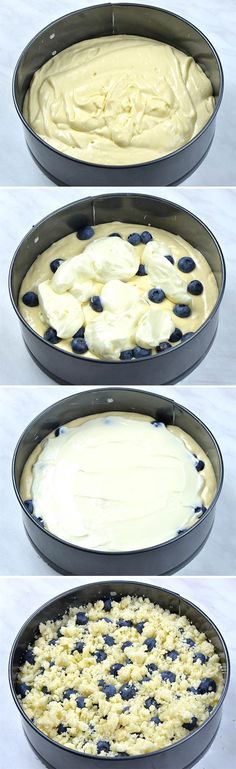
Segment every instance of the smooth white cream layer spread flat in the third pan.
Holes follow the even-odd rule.
[[[48,437],[33,466],[34,515],[82,547],[134,550],[191,525],[204,480],[164,424],[96,416]]]

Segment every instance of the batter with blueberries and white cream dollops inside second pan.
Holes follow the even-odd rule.
[[[22,282],[19,309],[57,347],[119,361],[181,343],[217,298],[208,262],[182,237],[110,222],[87,225],[40,254]]]

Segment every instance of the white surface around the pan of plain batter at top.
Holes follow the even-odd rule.
[[[0,75],[2,118],[0,123],[0,183],[52,185],[35,166],[24,142],[23,128],[11,98],[13,70],[23,48],[44,26],[75,9],[99,5],[101,0],[3,0],[0,25],[2,66]],[[217,117],[216,136],[210,153],[185,184],[233,185],[236,169],[235,116],[235,0],[150,0],[185,17],[210,39],[224,70],[224,99]]]

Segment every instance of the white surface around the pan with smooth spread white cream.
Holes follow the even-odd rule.
[[[22,431],[43,409],[74,392],[79,387],[2,387],[1,388],[1,479],[2,490],[2,574],[55,574],[37,555],[24,532],[21,508],[11,482],[12,454]],[[145,389],[145,388],[143,388]],[[235,494],[235,388],[154,387],[160,395],[173,398],[193,411],[213,432],[225,463],[223,490],[216,508],[213,530],[199,555],[180,574],[235,573],[236,494]]]

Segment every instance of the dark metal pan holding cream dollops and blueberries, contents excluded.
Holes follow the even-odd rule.
[[[85,224],[96,226],[112,221],[160,227],[181,235],[203,253],[214,273],[219,296],[201,328],[183,343],[163,353],[131,361],[105,361],[74,355],[52,345],[26,323],[18,310],[22,280],[37,256],[54,241]],[[41,369],[60,384],[150,385],[174,384],[201,363],[209,351],[218,326],[225,288],[225,263],[221,248],[208,227],[181,206],[151,195],[105,194],[85,198],[53,212],[34,225],[18,246],[9,274],[9,290],[18,315],[26,347]]]

